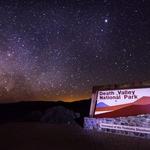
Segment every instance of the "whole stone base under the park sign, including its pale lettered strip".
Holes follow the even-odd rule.
[[[84,128],[150,139],[150,114],[117,118],[84,118]]]

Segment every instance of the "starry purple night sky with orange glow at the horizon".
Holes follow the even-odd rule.
[[[149,0],[0,1],[0,102],[133,81],[150,81]]]

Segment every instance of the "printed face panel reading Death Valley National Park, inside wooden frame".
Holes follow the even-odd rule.
[[[121,114],[121,116],[124,114],[127,116],[128,112],[125,111],[127,109],[130,110],[131,106],[133,111],[128,111],[128,116],[137,114],[138,112],[139,114],[150,113],[150,109],[149,112],[147,111],[150,107],[150,88],[98,91],[95,115],[100,116],[100,114],[109,113],[107,115],[108,117],[116,117],[119,116],[119,114]],[[125,110],[125,108],[127,109]],[[145,109],[146,112],[143,111],[143,109]],[[119,110],[119,112],[117,110]],[[113,112],[112,116],[110,115],[111,112]],[[103,116],[101,115],[100,117]],[[107,116],[105,115],[104,117]]]

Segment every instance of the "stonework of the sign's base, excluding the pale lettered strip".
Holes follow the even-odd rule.
[[[142,127],[150,130],[150,114],[129,116],[129,117],[117,117],[117,118],[84,118],[84,128],[88,130],[97,130],[101,132],[109,132],[114,134],[121,134],[134,137],[149,138],[150,133],[138,133],[132,131],[123,131],[117,129],[102,128],[101,124],[106,123],[110,125],[121,125],[129,127]]]

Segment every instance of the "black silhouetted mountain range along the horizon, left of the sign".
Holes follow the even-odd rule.
[[[0,122],[29,121],[32,112],[44,113],[54,106],[64,106],[80,113],[80,119],[83,121],[84,116],[89,116],[90,104],[90,99],[75,102],[28,101],[0,104]]]

